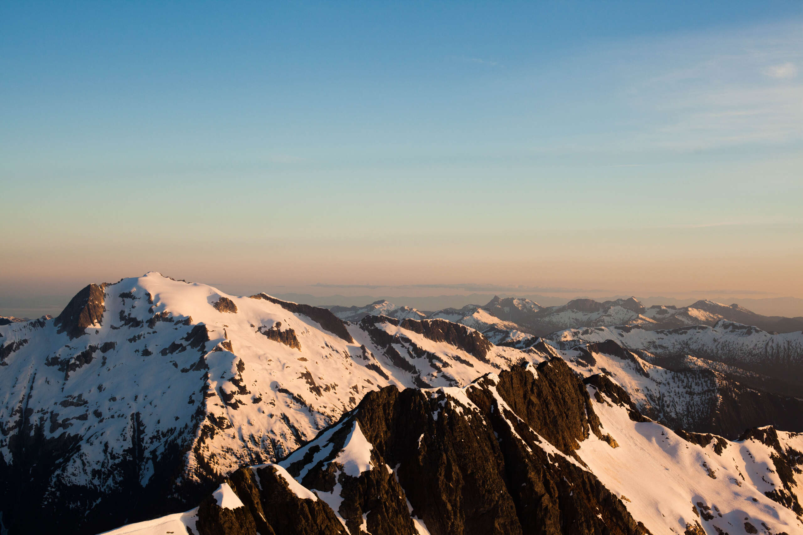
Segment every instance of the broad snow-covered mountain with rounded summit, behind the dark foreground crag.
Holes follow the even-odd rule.
[[[803,431],[785,417],[800,400],[718,371],[672,371],[614,342],[540,340],[484,308],[459,319],[349,323],[155,273],[87,286],[55,319],[0,326],[2,529],[97,533],[190,509],[238,467],[304,447],[369,392],[461,389],[555,358],[609,377],[672,428]]]

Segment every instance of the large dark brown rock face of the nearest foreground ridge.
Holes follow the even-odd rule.
[[[573,456],[577,440],[600,431],[584,384],[563,360],[534,371],[483,376],[464,402],[443,390],[369,392],[281,464],[296,477],[304,471],[304,486],[318,496],[339,492],[337,513],[352,534],[414,535],[412,517],[422,518],[432,535],[648,533],[577,460],[540,447],[548,440]],[[370,445],[370,468],[355,476],[338,455],[352,448],[357,431]],[[316,454],[323,451],[329,453],[321,459]],[[255,471],[259,482],[244,468],[231,487],[255,525],[264,518],[259,533],[345,533],[322,500],[296,496],[275,467]],[[201,535],[251,533],[234,513],[214,525],[202,524],[199,513]]]

